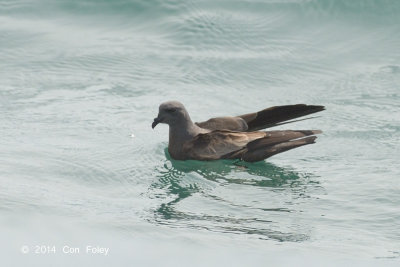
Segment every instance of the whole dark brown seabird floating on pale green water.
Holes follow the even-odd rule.
[[[319,130],[258,131],[282,125],[324,106],[276,106],[236,117],[218,117],[193,123],[182,103],[169,101],[159,107],[152,128],[169,125],[168,152],[176,160],[264,160],[275,154],[312,144]],[[298,121],[298,120],[297,120]]]

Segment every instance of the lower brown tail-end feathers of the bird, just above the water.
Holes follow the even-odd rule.
[[[273,155],[288,151],[288,150],[296,148],[296,147],[313,144],[313,143],[315,143],[316,138],[317,138],[316,136],[307,136],[302,139],[296,139],[296,140],[286,141],[283,143],[277,143],[272,146],[267,146],[267,147],[261,146],[258,148],[254,148],[252,150],[246,151],[242,155],[242,160],[248,161],[248,162],[264,160]]]

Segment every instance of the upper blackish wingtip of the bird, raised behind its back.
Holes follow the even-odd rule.
[[[259,112],[244,114],[239,117],[246,121],[248,125],[247,131],[257,131],[281,125],[284,121],[296,119],[322,110],[325,110],[324,106],[297,104],[275,106]]]

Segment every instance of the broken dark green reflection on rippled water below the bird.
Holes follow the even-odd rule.
[[[154,211],[157,224],[169,225],[172,227],[192,227],[208,229],[210,231],[221,231],[240,234],[253,234],[261,239],[274,239],[278,241],[303,241],[308,235],[302,232],[277,231],[276,221],[271,221],[265,212],[284,212],[290,214],[297,212],[289,207],[260,208],[254,207],[251,203],[243,204],[227,200],[223,196],[214,194],[213,191],[219,187],[241,185],[244,187],[255,187],[265,191],[281,192],[291,194],[291,199],[307,198],[307,190],[319,186],[313,181],[310,174],[298,173],[290,168],[278,167],[265,161],[258,163],[245,163],[233,160],[218,161],[177,161],[173,160],[168,150],[165,149],[167,160],[164,165],[158,168],[157,181],[152,184],[155,197],[162,199],[160,206]],[[189,197],[201,197],[204,203],[211,201],[222,205],[215,209],[229,207],[239,214],[215,215],[213,212],[199,212],[196,207],[193,211],[182,209],[178,204]],[[201,204],[201,203],[200,203]],[[268,204],[268,203],[266,203]],[[200,207],[198,207],[200,208]],[[204,207],[203,207],[204,209]],[[252,211],[252,216],[242,216],[240,211]],[[221,212],[222,213],[222,212]],[[254,215],[254,216],[253,216]],[[276,216],[275,216],[276,217]],[[267,218],[267,219],[266,219]],[[293,227],[291,227],[293,228]],[[304,230],[304,229],[303,229]]]

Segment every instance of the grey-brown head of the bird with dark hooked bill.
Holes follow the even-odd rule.
[[[158,116],[154,119],[151,127],[154,129],[159,123],[166,123],[169,126],[174,126],[188,119],[190,120],[189,114],[182,103],[178,101],[168,101],[160,105]]]

